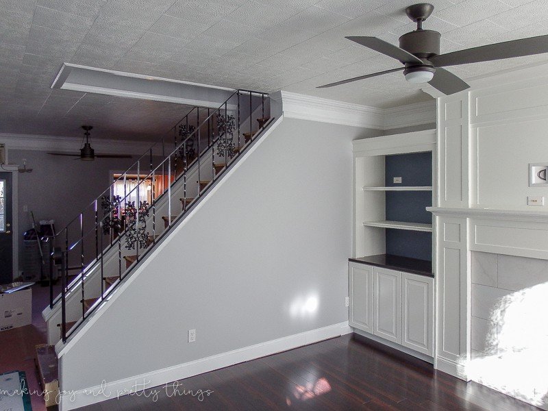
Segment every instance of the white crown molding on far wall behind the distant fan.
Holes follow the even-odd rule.
[[[77,153],[82,148],[82,138],[80,137],[0,133],[0,142],[3,142],[8,150]],[[105,138],[95,138],[92,140],[92,146],[98,154],[141,155],[149,150],[153,143],[153,141],[112,140]]]

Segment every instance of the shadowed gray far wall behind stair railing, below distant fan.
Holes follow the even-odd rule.
[[[23,232],[36,223],[55,220],[60,230],[112,183],[112,170],[125,171],[137,159],[103,158],[93,162],[49,155],[45,151],[10,150],[10,163],[23,164],[32,173],[18,173],[19,270],[23,267]],[[24,206],[28,212],[23,212]],[[76,233],[75,233],[76,234]]]

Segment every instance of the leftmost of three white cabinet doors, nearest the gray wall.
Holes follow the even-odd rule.
[[[349,324],[373,332],[373,267],[349,264]]]

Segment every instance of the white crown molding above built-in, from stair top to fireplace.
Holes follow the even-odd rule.
[[[290,119],[379,130],[436,123],[436,101],[434,100],[395,108],[376,108],[283,90],[280,95],[284,116]]]

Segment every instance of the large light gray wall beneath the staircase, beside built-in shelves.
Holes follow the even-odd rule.
[[[284,119],[64,349],[62,389],[347,321],[351,141],[378,134]]]

